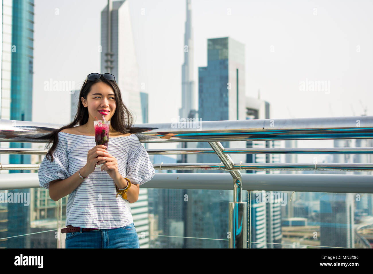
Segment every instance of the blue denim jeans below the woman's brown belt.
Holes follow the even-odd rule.
[[[67,232],[65,248],[140,248],[134,223],[115,229]]]

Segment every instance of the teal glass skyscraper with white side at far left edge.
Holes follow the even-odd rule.
[[[32,76],[34,52],[34,1],[3,1],[3,53],[1,68],[1,119],[32,120]],[[1,144],[6,147],[6,144]],[[31,148],[30,143],[11,142],[11,148]],[[4,157],[5,156],[5,157]],[[2,161],[4,158],[7,160]],[[31,155],[1,156],[2,163],[30,164]],[[29,173],[29,170],[10,170],[9,173]],[[8,192],[29,192],[13,189]],[[12,222],[7,223],[7,236],[29,233],[29,207],[20,203],[7,205]],[[29,236],[10,238],[7,248],[29,248]]]

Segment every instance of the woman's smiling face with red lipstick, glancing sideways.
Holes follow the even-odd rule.
[[[84,107],[88,108],[91,120],[110,120],[116,109],[115,92],[112,87],[104,82],[97,82],[91,86],[91,91],[87,95],[87,100],[82,97]],[[100,112],[108,110],[109,112]]]

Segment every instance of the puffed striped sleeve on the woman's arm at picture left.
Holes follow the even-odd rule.
[[[48,158],[44,157],[38,171],[39,185],[46,189],[49,189],[51,181],[70,177],[69,160],[65,151],[54,150],[53,162]]]

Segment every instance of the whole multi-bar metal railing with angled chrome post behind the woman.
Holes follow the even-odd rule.
[[[63,125],[1,120],[0,141],[42,142],[42,136]],[[250,248],[248,220],[250,199],[242,202],[242,190],[373,193],[370,175],[337,174],[241,174],[240,170],[373,171],[371,163],[234,163],[229,154],[372,154],[373,148],[224,148],[221,141],[370,139],[373,116],[299,119],[233,120],[137,124],[141,142],[208,142],[212,148],[147,149],[148,154],[216,154],[220,163],[154,164],[156,170],[225,170],[229,174],[157,173],[144,188],[232,189],[229,203],[229,248]],[[40,137],[30,139],[29,137]],[[0,148],[0,154],[46,154],[47,150]],[[1,170],[37,170],[38,164],[1,164]],[[36,174],[35,174],[36,175]],[[22,174],[1,174],[0,189],[39,187],[37,176],[25,182]],[[177,176],[177,179],[175,178]],[[21,179],[21,180],[19,180]],[[35,181],[36,179],[36,181]],[[302,182],[299,184],[298,182]],[[351,184],[351,181],[354,184]],[[203,182],[203,185],[200,183]],[[244,185],[242,182],[248,182]],[[338,187],[337,187],[338,186]],[[249,236],[249,237],[248,237]]]

